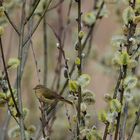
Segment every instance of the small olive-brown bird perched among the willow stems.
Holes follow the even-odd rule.
[[[63,101],[73,105],[71,101],[66,100],[64,97],[52,91],[51,89],[45,87],[44,85],[37,85],[33,89],[35,90],[35,94],[37,98],[42,102],[51,104],[56,100],[56,101]]]

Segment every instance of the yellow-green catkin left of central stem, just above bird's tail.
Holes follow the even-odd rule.
[[[69,80],[69,90],[71,92],[77,92],[78,91],[78,83],[75,80]]]

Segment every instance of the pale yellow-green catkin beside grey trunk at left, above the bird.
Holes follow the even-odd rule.
[[[19,64],[20,64],[20,60],[17,58],[10,58],[8,61],[8,67],[13,69],[17,68]]]

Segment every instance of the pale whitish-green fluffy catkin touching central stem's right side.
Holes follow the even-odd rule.
[[[90,76],[88,74],[82,74],[78,79],[77,82],[81,87],[86,87],[90,83]]]

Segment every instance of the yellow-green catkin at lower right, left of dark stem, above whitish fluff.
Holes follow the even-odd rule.
[[[117,99],[113,99],[110,101],[110,110],[111,112],[120,112],[121,111],[121,103]]]

